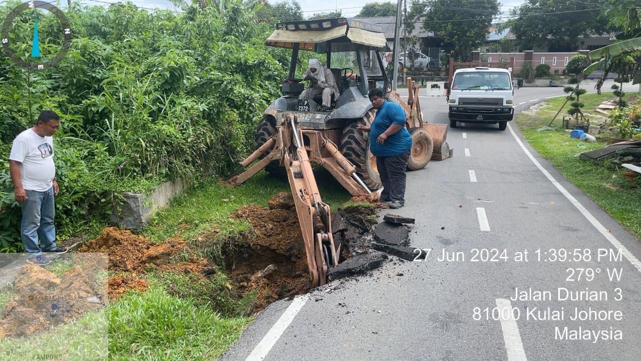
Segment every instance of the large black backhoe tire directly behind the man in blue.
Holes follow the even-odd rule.
[[[369,150],[369,135],[356,130],[356,126],[370,125],[373,120],[374,112],[369,110],[362,119],[345,125],[340,136],[340,154],[356,166],[356,174],[372,191],[381,188],[381,175],[376,166],[376,157]]]

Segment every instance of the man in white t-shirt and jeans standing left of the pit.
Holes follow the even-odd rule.
[[[53,110],[43,110],[33,128],[13,139],[9,168],[15,200],[22,205],[20,233],[28,261],[47,264],[40,252],[61,254],[67,249],[56,246],[54,195],[58,195],[56,166],[53,163],[53,134],[60,117]],[[38,241],[40,245],[38,246]]]

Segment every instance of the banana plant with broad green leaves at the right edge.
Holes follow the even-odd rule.
[[[603,70],[603,76],[596,85],[599,92],[609,73],[618,73],[622,82],[632,80],[633,84],[641,84],[641,37],[592,50],[588,53],[588,59],[592,64],[583,69],[583,74],[589,75],[597,69]]]

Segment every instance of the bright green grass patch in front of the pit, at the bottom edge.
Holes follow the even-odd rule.
[[[110,360],[213,360],[238,339],[251,321],[223,319],[191,299],[153,285],[129,292],[110,305]]]

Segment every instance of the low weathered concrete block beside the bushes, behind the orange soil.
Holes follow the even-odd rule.
[[[189,188],[190,183],[178,179],[160,184],[149,195],[124,192],[114,206],[111,221],[125,229],[142,229],[154,211],[166,207],[173,197]]]

